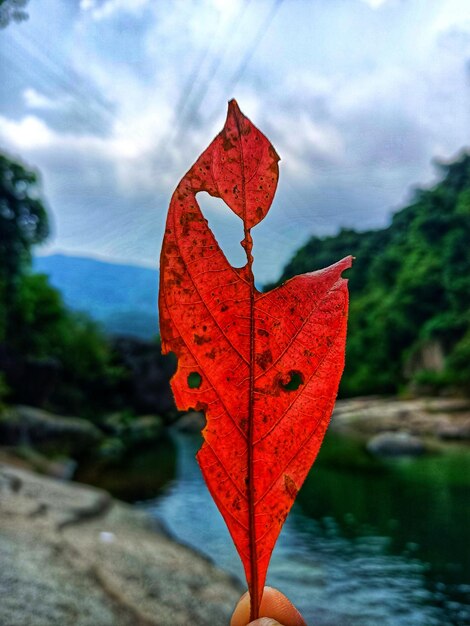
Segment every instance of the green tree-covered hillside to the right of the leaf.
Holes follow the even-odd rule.
[[[344,395],[395,393],[410,377],[470,390],[470,155],[439,167],[442,181],[418,191],[388,228],[312,237],[281,277],[356,257],[348,272]],[[444,367],[408,372],[410,360],[436,341]]]

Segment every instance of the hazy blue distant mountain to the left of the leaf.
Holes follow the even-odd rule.
[[[158,333],[157,270],[53,254],[35,257],[72,309],[88,313],[106,332],[151,338]]]

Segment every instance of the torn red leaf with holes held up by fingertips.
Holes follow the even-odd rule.
[[[320,448],[344,365],[351,257],[269,293],[254,286],[250,228],[269,210],[278,160],[232,100],[222,132],[171,199],[160,265],[163,351],[181,410],[204,410],[197,458],[243,562],[258,616],[282,524]],[[244,222],[233,268],[196,201],[222,198]]]

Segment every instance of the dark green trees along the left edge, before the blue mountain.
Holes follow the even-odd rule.
[[[47,276],[31,272],[31,248],[48,233],[38,175],[0,154],[0,347],[20,360],[55,362],[54,407],[92,414],[112,404],[122,373],[100,328],[70,312]]]

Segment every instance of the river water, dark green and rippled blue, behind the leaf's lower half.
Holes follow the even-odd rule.
[[[243,580],[194,454],[141,506]],[[268,583],[316,626],[470,624],[470,454],[382,463],[329,434],[279,538]]]

